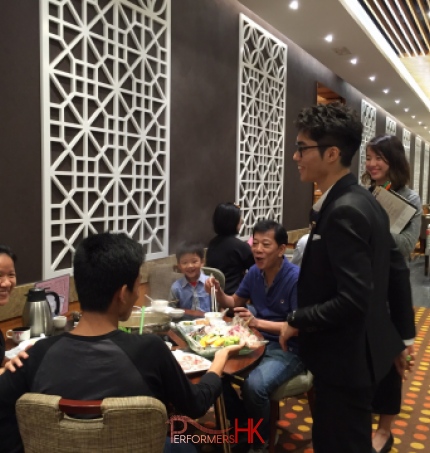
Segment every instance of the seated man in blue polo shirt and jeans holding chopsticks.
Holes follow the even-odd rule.
[[[250,327],[258,329],[269,343],[260,364],[251,371],[242,387],[243,401],[239,399],[230,385],[224,386],[227,415],[234,426],[234,419],[252,418],[258,426],[258,436],[250,452],[265,451],[269,438],[269,395],[283,382],[303,370],[297,355],[297,339],[288,343],[288,351],[282,351],[279,334],[287,314],[297,307],[297,279],[299,268],[284,257],[287,232],[273,220],[258,222],[253,231],[252,252],[255,265],[242,280],[233,296],[222,291],[219,282],[210,278],[206,291],[215,284],[217,300],[222,307],[235,307],[235,315],[248,320]],[[248,299],[255,308],[255,316],[245,308]]]

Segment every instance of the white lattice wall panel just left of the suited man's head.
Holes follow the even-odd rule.
[[[287,46],[240,16],[236,200],[242,237],[261,218],[282,221]]]

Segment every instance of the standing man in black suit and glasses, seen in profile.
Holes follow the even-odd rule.
[[[296,126],[300,179],[323,195],[313,207],[298,309],[280,342],[298,334],[314,374],[315,453],[370,453],[375,386],[393,361],[400,373],[407,368],[399,330],[415,336],[409,269],[385,211],[350,173],[359,117],[339,103],[318,105],[304,109]]]

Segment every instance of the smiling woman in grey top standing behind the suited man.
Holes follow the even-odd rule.
[[[421,228],[421,200],[419,195],[407,187],[410,180],[410,167],[401,141],[392,135],[374,137],[367,144],[366,173],[363,182],[370,182],[370,190],[382,186],[393,190],[415,206],[416,213],[398,234],[392,233],[395,243],[409,262],[410,254],[415,249]],[[413,319],[413,318],[412,318]],[[396,325],[395,320],[393,320]],[[396,328],[401,332],[399,326]],[[403,338],[409,359],[413,360],[414,339]],[[412,363],[412,362],[410,362]],[[395,366],[379,383],[373,400],[373,410],[380,414],[378,428],[373,437],[373,453],[387,453],[393,446],[391,423],[400,412],[402,396],[402,377]]]

